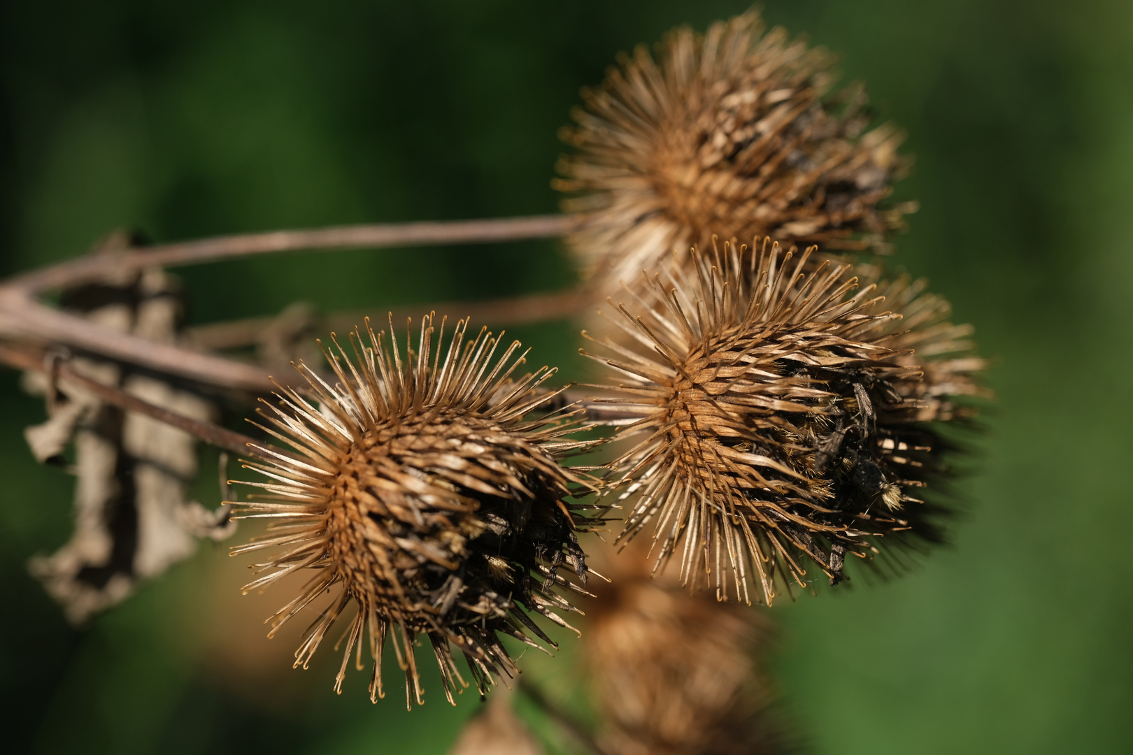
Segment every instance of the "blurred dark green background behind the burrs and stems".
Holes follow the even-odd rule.
[[[619,50],[743,1],[7,2],[0,266],[156,240],[553,212],[579,87]],[[996,360],[954,546],[913,574],[776,607],[772,664],[816,753],[1133,752],[1133,5],[770,0],[838,52],[917,155],[898,260]],[[374,307],[554,290],[554,242],[273,257],[181,273],[194,323],[304,299]],[[518,329],[577,374],[565,324]],[[542,363],[542,362],[540,362]],[[224,546],[76,632],[25,570],[67,537],[71,481],[0,374],[0,715],[7,752],[443,753],[463,718],[406,713],[333,653],[291,671]],[[215,494],[206,466],[198,495]],[[1123,472],[1122,470],[1126,470]],[[210,496],[213,496],[210,498]],[[235,559],[232,559],[235,561]]]

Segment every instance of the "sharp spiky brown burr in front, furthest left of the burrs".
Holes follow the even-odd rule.
[[[556,395],[536,393],[555,370],[512,381],[525,361],[514,359],[519,342],[495,359],[497,340],[484,329],[466,338],[466,327],[460,321],[444,348],[442,321],[434,353],[432,316],[416,344],[407,333],[403,352],[367,324],[368,344],[357,332],[351,336],[353,360],[341,346],[326,353],[335,385],[300,363],[309,391],[282,389],[280,406],[261,411],[264,429],[298,453],[264,448],[259,462],[247,464],[271,481],[245,483],[264,491],[245,505],[246,515],[273,524],[233,554],[274,549],[257,565],[264,576],[245,591],[313,569],[298,597],[270,619],[273,634],[334,593],[306,632],[297,667],[306,667],[331,625],[357,604],[340,640],[338,692],[356,646],[361,668],[368,632],[370,700],[384,696],[381,658],[392,634],[407,705],[410,689],[420,704],[414,644],[424,633],[449,701],[458,684],[467,686],[452,646],[483,695],[495,674],[516,671],[499,635],[534,645],[530,633],[553,645],[525,609],[568,626],[555,610],[574,609],[553,587],[583,592],[560,573],[586,582],[576,538],[582,507],[569,503],[581,480],[556,463],[587,445],[563,439],[579,423],[569,410],[533,418]]]

